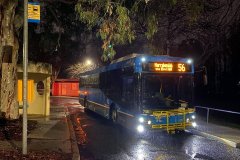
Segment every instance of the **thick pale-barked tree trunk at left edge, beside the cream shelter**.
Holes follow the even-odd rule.
[[[14,17],[17,0],[0,1],[0,112],[7,119],[19,117],[17,102],[18,39]]]

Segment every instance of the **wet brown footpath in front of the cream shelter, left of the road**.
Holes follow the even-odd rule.
[[[51,104],[48,117],[29,115],[28,120],[37,121],[37,127],[28,134],[28,152],[61,153],[80,160],[73,126],[67,116],[67,107],[62,104]],[[22,141],[0,141],[0,150],[21,151],[21,148]]]

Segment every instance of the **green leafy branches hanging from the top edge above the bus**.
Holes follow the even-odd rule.
[[[77,18],[90,30],[97,29],[103,41],[103,60],[112,59],[114,45],[131,43],[139,33],[148,39],[158,33],[161,17],[179,6],[190,23],[197,21],[202,0],[78,0]]]

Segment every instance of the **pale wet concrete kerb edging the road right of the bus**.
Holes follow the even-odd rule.
[[[203,132],[203,131],[195,130],[195,129],[191,129],[191,130],[188,130],[188,131],[193,133],[193,134],[197,134],[197,135],[200,135],[200,136],[203,136],[203,137],[207,137],[209,139],[220,141],[220,142],[222,142],[224,144],[227,144],[227,145],[229,145],[231,147],[234,147],[234,148],[240,148],[240,143],[237,143],[237,142],[234,142],[234,141],[222,138],[222,137],[218,137],[218,136],[215,136],[215,135]]]

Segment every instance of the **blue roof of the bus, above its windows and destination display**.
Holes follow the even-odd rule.
[[[96,68],[91,71],[87,71],[84,73],[81,73],[80,76],[89,75],[89,74],[95,74],[95,73],[101,73],[105,71],[110,71],[118,68],[126,68],[130,66],[134,66],[136,70],[141,66],[143,63],[148,62],[182,62],[187,63],[189,58],[181,58],[181,57],[172,57],[168,55],[149,55],[149,54],[130,54],[124,57],[121,57],[119,59],[113,60],[108,66],[104,66],[101,68]],[[193,68],[193,66],[192,66]]]

